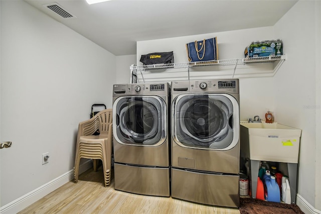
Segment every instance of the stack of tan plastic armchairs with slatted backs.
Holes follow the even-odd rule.
[[[94,135],[96,131],[99,135]],[[78,182],[79,162],[81,158],[93,159],[94,170],[97,160],[102,160],[104,185],[110,184],[112,143],[112,109],[97,113],[93,118],[79,123],[76,158],[74,168],[75,182]]]

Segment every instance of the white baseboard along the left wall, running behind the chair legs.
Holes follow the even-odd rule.
[[[91,167],[92,167],[92,160],[87,160],[86,162],[84,162],[82,165],[79,166],[79,174],[85,172]],[[52,181],[49,181],[48,183],[23,195],[22,197],[0,207],[0,213],[3,213],[3,214],[17,213],[73,179],[74,179],[74,169],[53,179]]]

